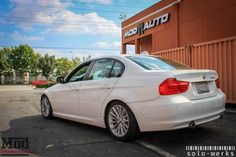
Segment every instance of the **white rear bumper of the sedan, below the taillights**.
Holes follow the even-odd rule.
[[[188,100],[183,95],[161,96],[153,101],[129,104],[140,131],[174,130],[220,118],[225,110],[225,95],[220,90],[214,97]]]

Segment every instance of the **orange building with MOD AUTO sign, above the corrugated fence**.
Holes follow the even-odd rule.
[[[162,0],[122,23],[127,45],[149,53],[236,36],[235,0]]]

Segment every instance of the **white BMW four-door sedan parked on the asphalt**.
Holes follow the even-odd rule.
[[[107,128],[117,140],[222,118],[225,95],[214,70],[192,70],[155,56],[86,61],[45,90],[41,111]]]

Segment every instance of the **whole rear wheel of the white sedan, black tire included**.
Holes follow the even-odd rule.
[[[131,141],[139,135],[139,127],[129,107],[120,101],[113,101],[105,115],[106,127],[113,138]]]

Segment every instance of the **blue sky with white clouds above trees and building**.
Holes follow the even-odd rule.
[[[28,44],[69,59],[120,54],[120,13],[129,18],[158,1],[0,0],[0,48]]]

